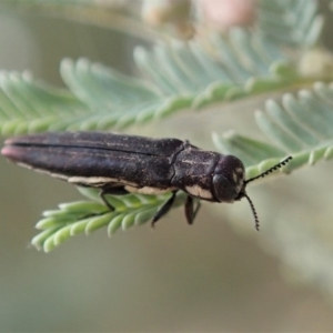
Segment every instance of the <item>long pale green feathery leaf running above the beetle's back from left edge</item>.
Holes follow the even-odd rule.
[[[63,130],[109,130],[151,121],[188,108],[231,101],[302,80],[274,44],[245,30],[198,41],[137,48],[134,58],[149,81],[101,64],[65,59],[61,75],[70,91],[0,75],[0,131],[4,135]]]

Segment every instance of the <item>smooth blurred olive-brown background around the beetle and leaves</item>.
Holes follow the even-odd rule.
[[[142,42],[56,18],[0,13],[0,68],[28,69],[59,85],[62,58],[87,57],[131,73],[131,50]],[[216,105],[130,131],[213,149],[212,131],[251,134],[253,111],[263,100],[223,105],[223,117]],[[303,255],[309,265],[332,270],[333,258],[317,262],[314,244],[306,243],[317,223],[332,222],[331,171],[332,162],[321,163],[251,186],[260,233],[248,202],[205,203],[193,226],[179,209],[154,231],[145,224],[108,239],[102,230],[44,254],[29,245],[34,222],[42,211],[81,196],[69,184],[1,158],[0,331],[332,332],[326,285],[333,280],[323,281],[321,292],[306,264],[295,264]],[[304,234],[292,234],[293,224],[304,226]],[[281,234],[272,239],[269,230],[278,226]],[[316,284],[303,283],[312,280]]]

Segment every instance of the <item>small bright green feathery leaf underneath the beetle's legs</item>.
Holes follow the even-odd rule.
[[[117,230],[127,230],[134,225],[141,225],[152,220],[159,208],[168,201],[170,193],[163,195],[108,195],[108,201],[114,208],[110,210],[100,202],[99,191],[94,189],[79,188],[79,191],[90,201],[77,201],[62,203],[59,210],[46,211],[43,219],[36,228],[41,232],[31,243],[38,250],[50,252],[70,236],[91,232],[108,226],[111,236]],[[184,193],[178,193],[174,208],[184,203]]]

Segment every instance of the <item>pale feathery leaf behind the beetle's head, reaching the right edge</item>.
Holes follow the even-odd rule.
[[[301,90],[295,98],[282,97],[282,103],[269,100],[258,111],[256,122],[272,143],[256,141],[234,132],[213,134],[221,151],[236,154],[252,178],[285,155],[293,160],[283,169],[291,172],[305,164],[333,158],[333,85],[317,82],[313,90]]]

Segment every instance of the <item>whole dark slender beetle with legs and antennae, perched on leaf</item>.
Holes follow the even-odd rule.
[[[255,229],[259,219],[245,192],[249,182],[285,165],[289,157],[260,175],[245,180],[245,168],[233,155],[201,150],[179,139],[151,139],[107,132],[39,133],[8,139],[1,153],[9,160],[69,183],[97,188],[104,204],[113,210],[107,194],[160,194],[172,192],[158,210],[152,225],[172,206],[179,190],[189,224],[200,209],[193,198],[210,202],[246,198]]]

